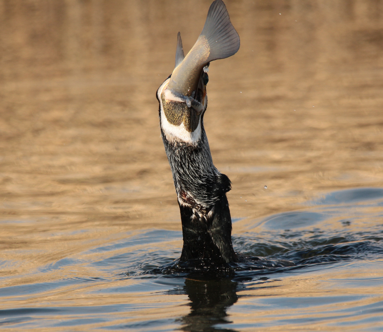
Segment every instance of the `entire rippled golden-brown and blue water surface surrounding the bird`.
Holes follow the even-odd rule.
[[[0,329],[383,330],[383,3],[226,4],[205,128],[234,249],[295,266],[168,268],[155,91],[210,2],[0,0]]]

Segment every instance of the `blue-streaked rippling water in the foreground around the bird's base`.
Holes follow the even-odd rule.
[[[308,205],[235,221],[244,229],[233,236],[237,250],[289,259],[294,267],[226,278],[155,274],[180,256],[182,233],[129,232],[23,276],[35,276],[34,282],[3,287],[9,309],[0,311],[1,324],[14,330],[381,330],[383,189],[333,192]],[[46,281],[39,282],[41,275]]]

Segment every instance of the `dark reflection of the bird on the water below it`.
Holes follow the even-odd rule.
[[[182,317],[182,331],[233,331],[215,327],[228,324],[226,310],[237,302],[237,282],[224,279],[186,279],[184,291],[190,299],[191,311]]]

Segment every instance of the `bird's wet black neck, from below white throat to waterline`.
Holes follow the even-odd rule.
[[[169,140],[163,130],[162,139],[180,206],[183,234],[181,261],[236,261],[226,198],[226,192],[231,189],[230,180],[214,167],[203,126],[196,145]]]

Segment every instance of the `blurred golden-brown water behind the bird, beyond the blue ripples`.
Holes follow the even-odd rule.
[[[205,127],[232,216],[383,187],[383,1],[226,5],[241,48],[210,66]],[[181,229],[155,91],[209,6],[0,0],[0,211],[25,221],[3,228],[6,248]]]

